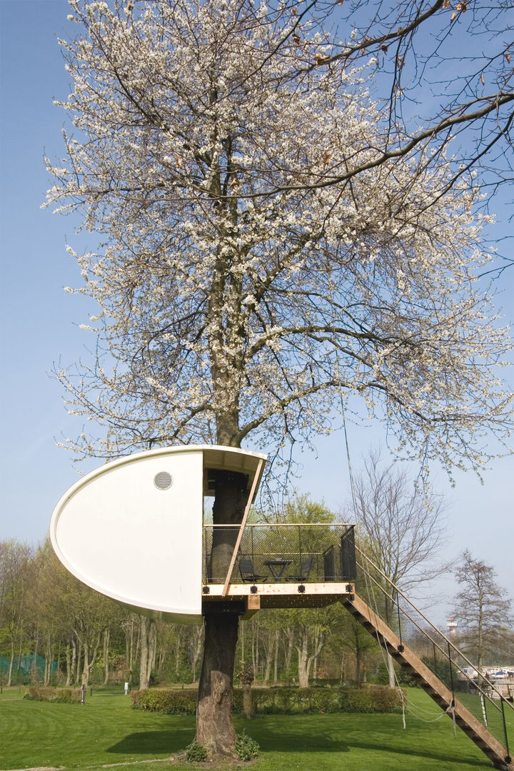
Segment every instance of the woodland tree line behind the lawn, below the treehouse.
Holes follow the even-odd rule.
[[[201,625],[154,621],[122,608],[66,571],[48,540],[32,547],[0,543],[0,677],[4,685],[108,685],[146,688],[196,682]],[[380,674],[375,641],[335,604],[260,611],[243,621],[237,672],[307,685],[309,678],[358,681]],[[357,669],[356,669],[357,668]]]

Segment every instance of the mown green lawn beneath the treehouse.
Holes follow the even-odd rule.
[[[440,710],[418,689],[412,699],[433,719]],[[510,718],[510,715],[509,715]],[[446,716],[421,722],[407,715],[267,715],[236,720],[257,739],[263,756],[253,771],[485,771],[491,765],[460,731],[453,737]],[[22,699],[18,689],[0,695],[0,768],[64,766],[116,771],[193,769],[164,762],[194,735],[194,718],[130,709],[123,695],[93,693],[86,705],[49,704]],[[512,736],[512,732],[511,732]],[[512,751],[512,749],[511,749]],[[141,763],[159,759],[160,763]],[[140,764],[134,766],[132,764]]]

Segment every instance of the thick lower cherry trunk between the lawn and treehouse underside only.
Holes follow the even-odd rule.
[[[232,681],[236,654],[237,612],[205,615],[205,644],[198,686],[197,742],[210,758],[237,758],[232,722]]]

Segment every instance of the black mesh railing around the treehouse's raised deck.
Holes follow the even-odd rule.
[[[354,581],[351,524],[247,525],[230,576],[231,584]],[[224,584],[238,525],[203,528],[203,583]]]

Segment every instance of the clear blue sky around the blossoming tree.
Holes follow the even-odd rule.
[[[2,321],[2,521],[0,538],[39,543],[47,534],[52,509],[77,479],[70,456],[55,437],[72,432],[59,385],[49,377],[52,362],[79,358],[90,344],[79,324],[87,322],[87,301],[62,291],[79,284],[79,270],[66,243],[76,251],[92,245],[75,236],[72,217],[42,210],[51,181],[44,153],[62,153],[62,111],[52,97],[66,97],[68,78],[55,35],[66,37],[66,0],[0,0],[0,312]],[[505,210],[504,210],[505,211]],[[500,223],[497,234],[508,233]],[[493,231],[493,234],[496,235]],[[503,249],[512,247],[504,246]],[[507,321],[514,320],[514,268],[499,282]],[[514,373],[507,373],[511,388]],[[381,426],[349,426],[354,471],[371,446],[386,446]],[[344,436],[317,443],[317,457],[305,451],[297,489],[324,498],[334,510],[349,499]],[[385,451],[387,456],[387,451]],[[91,462],[84,470],[99,465]],[[472,473],[458,473],[451,489],[435,469],[433,484],[448,503],[445,558],[463,549],[496,567],[499,583],[514,597],[514,459],[496,460],[482,485]],[[445,581],[442,595],[453,592]],[[438,615],[444,618],[442,601]],[[449,606],[448,606],[449,607]],[[437,620],[437,619],[436,619]],[[442,619],[439,619],[442,620]]]

